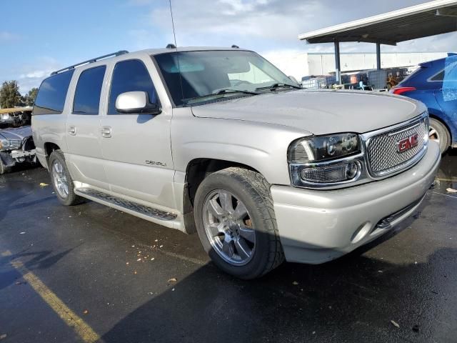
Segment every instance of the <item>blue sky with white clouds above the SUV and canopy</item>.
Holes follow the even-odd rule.
[[[308,45],[298,41],[297,35],[423,2],[171,0],[179,46],[237,44],[269,56],[333,51],[331,44]],[[173,41],[168,0],[2,0],[0,13],[0,82],[16,79],[23,93],[39,86],[51,71],[69,64],[121,49],[162,47]],[[383,49],[457,51],[457,35]],[[341,50],[374,51],[374,46],[348,43]]]

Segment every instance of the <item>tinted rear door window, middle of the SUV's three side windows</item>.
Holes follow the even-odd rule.
[[[99,114],[101,86],[106,66],[81,72],[74,92],[73,114]]]

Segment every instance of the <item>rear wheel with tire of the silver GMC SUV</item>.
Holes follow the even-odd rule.
[[[66,167],[64,154],[60,150],[52,151],[48,164],[52,187],[61,204],[65,206],[80,204],[83,198],[74,192],[73,180]]]

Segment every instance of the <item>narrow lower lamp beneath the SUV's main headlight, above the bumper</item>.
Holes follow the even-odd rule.
[[[360,172],[361,164],[349,161],[328,166],[306,166],[301,169],[300,176],[304,182],[330,184],[355,179]]]

